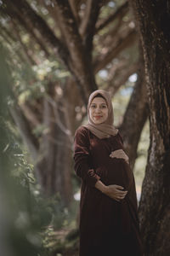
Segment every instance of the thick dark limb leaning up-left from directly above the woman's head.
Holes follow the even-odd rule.
[[[89,61],[90,52],[85,51],[82,45],[82,38],[78,32],[77,22],[71,12],[68,0],[56,0],[56,5],[59,9],[66,44],[71,55],[71,71],[75,74],[82,99],[87,103],[89,93],[97,89],[91,62]]]

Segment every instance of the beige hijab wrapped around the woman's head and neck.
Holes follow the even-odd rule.
[[[90,118],[89,115],[89,108],[91,105],[91,102],[93,101],[94,97],[100,94],[105,98],[105,102],[108,107],[108,118],[105,120],[105,123],[102,124],[94,124],[93,120]],[[111,137],[111,135],[115,136],[118,132],[118,130],[113,125],[113,107],[111,103],[111,95],[109,92],[105,90],[94,90],[94,92],[89,96],[88,99],[88,125],[83,125],[88,128],[92,133],[94,133],[95,136],[99,137],[100,139]]]

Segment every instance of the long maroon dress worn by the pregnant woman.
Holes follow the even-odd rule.
[[[99,139],[86,127],[75,135],[75,171],[82,178],[80,201],[80,256],[140,256],[139,217],[133,172],[123,159],[111,158],[111,151],[123,149],[122,137]],[[117,184],[127,190],[115,201],[94,187]]]

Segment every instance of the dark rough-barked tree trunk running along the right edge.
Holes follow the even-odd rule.
[[[144,49],[150,106],[150,147],[139,204],[146,255],[170,255],[169,1],[132,0]]]

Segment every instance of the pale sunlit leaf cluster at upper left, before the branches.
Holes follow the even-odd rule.
[[[70,73],[58,61],[48,59],[32,67],[26,63],[13,69],[13,90],[18,96],[19,104],[33,102],[47,94],[49,84],[64,84],[68,76]]]

